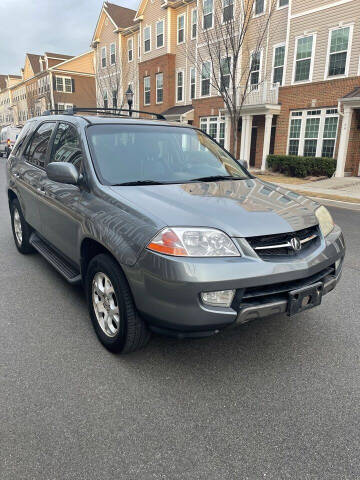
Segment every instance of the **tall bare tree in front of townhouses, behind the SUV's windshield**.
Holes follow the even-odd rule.
[[[209,91],[212,87],[224,101],[233,132],[231,150],[236,156],[243,105],[265,80],[259,76],[260,55],[267,42],[276,0],[270,0],[264,14],[259,16],[256,16],[255,8],[259,5],[256,0],[215,0],[210,13],[206,0],[202,5],[199,12],[202,18],[197,22],[197,48],[187,48],[187,57],[198,71],[198,78],[206,79],[200,82],[200,88],[203,84],[207,88],[208,84]]]

